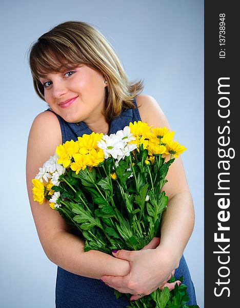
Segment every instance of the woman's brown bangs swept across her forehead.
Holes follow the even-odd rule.
[[[32,47],[30,52],[30,68],[33,78],[45,77],[48,73],[61,72],[66,69],[75,68],[85,61],[79,57],[79,50],[72,50],[70,47],[59,43],[39,40]]]

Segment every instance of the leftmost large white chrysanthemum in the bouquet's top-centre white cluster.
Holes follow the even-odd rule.
[[[122,155],[122,149],[125,144],[121,138],[116,136],[115,134],[104,135],[100,141],[98,141],[97,146],[104,151],[105,159],[111,155],[114,159],[117,156]]]

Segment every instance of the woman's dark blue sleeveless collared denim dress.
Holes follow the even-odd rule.
[[[134,99],[136,106],[136,101]],[[52,111],[48,109],[48,111]],[[84,133],[90,134],[92,130],[84,123],[68,123],[57,115],[62,131],[62,140],[77,140]],[[123,129],[129,122],[141,121],[138,109],[127,109],[112,120],[110,133],[116,133]],[[175,270],[175,278],[184,277],[183,283],[188,287],[190,301],[188,304],[196,304],[194,286],[191,280],[189,269],[184,256],[182,256],[178,268]],[[56,289],[55,289],[56,308],[124,308],[130,304],[126,295],[116,299],[113,288],[107,286],[104,282],[72,274],[61,267],[57,267]]]

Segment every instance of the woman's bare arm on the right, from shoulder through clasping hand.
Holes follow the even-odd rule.
[[[163,111],[152,97],[139,95],[136,100],[143,122],[152,127],[166,126],[170,129]],[[169,167],[167,180],[163,190],[169,201],[161,224],[160,244],[156,249],[118,251],[115,257],[130,262],[130,273],[125,277],[101,277],[119,292],[150,294],[158,286],[162,288],[169,274],[178,267],[194,225],[193,203],[181,158],[175,159]],[[131,300],[138,298],[134,295]]]

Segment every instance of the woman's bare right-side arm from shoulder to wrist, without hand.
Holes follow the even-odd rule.
[[[140,95],[137,102],[141,105],[139,113],[143,122],[152,127],[166,126],[170,130],[163,111],[152,97]],[[170,166],[167,180],[168,183],[164,185],[163,190],[166,191],[169,200],[163,214],[159,248],[170,249],[172,256],[175,256],[173,262],[177,267],[194,226],[193,202],[181,157],[176,158]]]

